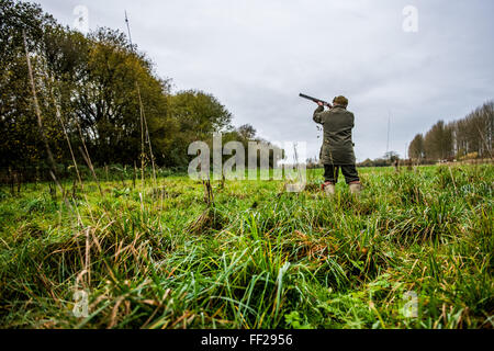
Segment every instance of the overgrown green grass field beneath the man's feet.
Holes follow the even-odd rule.
[[[66,183],[72,211],[4,188],[0,327],[492,328],[494,166],[360,171],[359,199],[321,171],[213,182],[212,205],[184,176]]]

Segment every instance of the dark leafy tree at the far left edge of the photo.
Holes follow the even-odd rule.
[[[43,35],[55,20],[45,14],[37,4],[0,0],[0,166],[14,168],[44,160],[44,148],[32,103],[32,90],[27,80],[27,65],[23,33],[32,64],[42,65]],[[38,88],[43,88],[35,73]],[[40,103],[46,106],[42,89]],[[44,120],[45,132],[53,141],[59,137],[53,121]]]

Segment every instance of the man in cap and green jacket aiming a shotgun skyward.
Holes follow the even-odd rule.
[[[301,98],[312,100],[318,104],[314,112],[314,122],[324,127],[324,141],[321,150],[321,160],[324,165],[325,183],[323,190],[327,195],[335,194],[341,169],[352,194],[360,193],[361,183],[357,172],[356,158],[351,131],[355,127],[353,113],[347,111],[348,99],[337,97],[333,105],[312,97],[301,94]],[[329,110],[325,111],[324,106]]]

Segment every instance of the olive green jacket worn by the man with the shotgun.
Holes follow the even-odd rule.
[[[353,113],[340,106],[327,111],[319,106],[314,112],[314,122],[324,126],[321,162],[335,166],[355,165],[353,141],[351,139],[351,129],[355,126]]]

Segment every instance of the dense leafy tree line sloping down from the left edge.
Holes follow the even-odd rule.
[[[151,59],[123,33],[100,27],[83,35],[58,24],[37,4],[0,0],[3,170],[47,167],[26,49],[43,133],[63,167],[74,158],[83,165],[87,154],[96,166],[137,161],[184,169],[192,158],[188,146],[212,143],[214,132],[223,133],[224,143],[259,140],[252,126],[235,128],[232,113],[213,94],[172,93],[172,80],[158,77]]]

